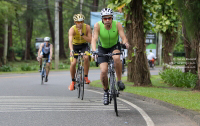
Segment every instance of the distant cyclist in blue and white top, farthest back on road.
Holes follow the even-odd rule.
[[[50,71],[50,64],[52,60],[52,54],[53,54],[53,45],[50,43],[50,38],[45,37],[44,38],[44,43],[40,44],[40,48],[38,50],[38,61],[40,64],[40,72],[42,69],[42,58],[48,58],[47,63],[46,63],[46,77],[45,77],[45,82],[48,81],[48,75]]]

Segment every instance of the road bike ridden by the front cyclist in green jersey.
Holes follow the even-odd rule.
[[[118,110],[117,110],[117,97],[119,97],[119,90],[118,85],[116,83],[116,77],[115,77],[115,68],[114,68],[114,60],[112,58],[113,55],[121,55],[122,53],[108,53],[108,54],[100,54],[97,53],[98,56],[105,56],[108,57],[108,78],[109,78],[109,103],[111,104],[112,99],[114,100],[114,110],[116,113],[116,116],[118,116]]]

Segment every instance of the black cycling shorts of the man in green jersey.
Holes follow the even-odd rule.
[[[119,42],[116,45],[114,45],[113,47],[111,47],[111,48],[103,48],[101,46],[98,46],[98,52],[102,53],[102,54],[112,53],[114,50],[121,51],[121,46],[120,46]],[[104,62],[108,62],[108,57],[98,56],[97,61],[98,61],[98,64],[101,64],[101,63],[104,63]]]

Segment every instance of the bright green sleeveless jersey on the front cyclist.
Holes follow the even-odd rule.
[[[103,48],[111,48],[112,46],[116,45],[119,38],[117,30],[117,21],[112,21],[112,28],[110,30],[107,30],[104,27],[102,21],[99,21],[98,24],[100,25],[98,45]]]

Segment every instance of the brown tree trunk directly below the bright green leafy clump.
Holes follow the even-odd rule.
[[[173,61],[173,51],[174,46],[177,42],[177,36],[178,33],[174,32],[171,33],[171,31],[166,31],[163,34],[163,62],[164,64],[170,64]],[[167,67],[164,65],[163,70],[165,70]]]

